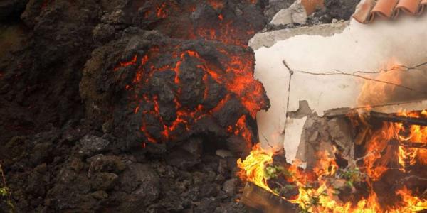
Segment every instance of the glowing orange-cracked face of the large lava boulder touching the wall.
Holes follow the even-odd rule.
[[[118,76],[125,70],[135,70],[125,90],[135,106],[133,113],[142,116],[139,130],[146,138],[143,142],[179,140],[183,132],[191,132],[192,126],[204,117],[221,119],[221,111],[241,106],[243,111],[238,111],[241,115],[232,124],[221,125],[226,125],[228,133],[241,136],[251,148],[254,134],[247,120],[255,119],[256,112],[268,106],[263,85],[253,78],[251,51],[233,53],[218,45],[215,50],[218,57],[209,58],[206,53],[181,45],[166,48],[174,51],[165,56],[162,48],[149,48],[144,54],[118,62],[113,69]],[[164,60],[165,57],[168,59]],[[152,84],[159,88],[150,88]],[[218,93],[221,88],[222,94]],[[174,114],[165,114],[164,107],[171,105]]]

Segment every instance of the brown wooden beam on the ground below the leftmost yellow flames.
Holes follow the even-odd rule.
[[[263,190],[252,182],[246,182],[241,202],[252,209],[265,213],[296,213],[298,207],[278,195]]]

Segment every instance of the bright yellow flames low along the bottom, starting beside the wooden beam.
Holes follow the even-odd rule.
[[[238,173],[242,180],[253,182],[255,185],[278,195],[268,186],[268,178],[265,175],[266,165],[273,163],[273,151],[265,151],[258,143],[253,147],[250,155],[245,160],[238,159],[237,165],[241,169]],[[420,212],[427,209],[427,199],[413,196],[411,191],[406,188],[396,190],[396,195],[401,197],[401,202],[394,207],[384,209],[379,205],[379,200],[371,190],[369,196],[362,198],[357,202],[342,202],[337,197],[336,190],[332,187],[330,178],[334,177],[337,172],[337,163],[327,153],[318,153],[320,157],[317,166],[312,172],[298,172],[297,164],[294,163],[288,168],[292,170],[292,181],[298,187],[299,194],[293,200],[288,200],[294,204],[298,204],[305,212]],[[310,187],[309,174],[317,176],[318,187]],[[306,175],[303,177],[302,175]],[[282,197],[285,199],[284,197]]]

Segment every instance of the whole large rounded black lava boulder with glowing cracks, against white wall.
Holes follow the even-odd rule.
[[[241,116],[268,107],[263,89],[253,90],[260,82],[246,80],[253,76],[251,60],[248,48],[130,28],[94,50],[80,94],[88,116],[112,119],[115,134],[130,146],[182,141],[204,133],[193,127],[204,117],[226,131]]]

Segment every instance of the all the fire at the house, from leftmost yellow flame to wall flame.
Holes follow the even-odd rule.
[[[386,104],[391,100],[389,94],[393,94],[396,85],[401,83],[401,66],[395,62],[384,67],[386,72],[380,72],[374,81],[367,80],[358,102],[365,106],[366,111],[372,110],[371,106]],[[399,71],[389,72],[390,70]],[[384,84],[383,81],[391,82]],[[369,114],[368,114],[369,116]],[[427,110],[406,112],[404,110],[396,116],[427,119]],[[287,170],[292,177],[286,178],[292,185],[298,187],[298,195],[292,199],[282,197],[288,202],[298,204],[302,212],[421,212],[427,209],[426,192],[417,196],[406,187],[391,189],[391,195],[396,195],[395,202],[381,203],[381,194],[375,191],[374,183],[381,181],[383,175],[390,169],[396,169],[400,173],[408,173],[413,166],[427,165],[427,126],[408,125],[383,121],[380,126],[371,126],[364,116],[350,117],[355,126],[367,126],[364,130],[364,156],[361,163],[354,164],[354,168],[339,168],[334,160],[334,153],[323,151],[317,153],[317,165],[311,170],[298,168],[299,162],[288,166]],[[260,156],[268,156],[268,160],[262,161]],[[246,158],[239,159],[238,166],[241,173],[245,174],[246,181],[254,182],[269,192],[278,195],[277,190],[270,188],[268,176],[263,170],[265,165],[273,164],[272,155],[266,151],[260,151],[256,146],[254,151]],[[258,161],[256,161],[258,159]],[[246,163],[247,162],[247,163]],[[257,163],[258,162],[258,163]],[[262,163],[261,163],[262,162]],[[391,166],[398,168],[391,168]],[[343,171],[349,173],[349,169],[357,171],[361,175],[360,182],[364,182],[365,194],[358,200],[343,202],[339,198],[339,189],[335,187],[337,182],[349,183],[352,190],[357,190],[351,178],[342,178]],[[315,177],[315,178],[313,178]],[[419,189],[425,190],[425,189]],[[383,195],[381,195],[383,196]]]

